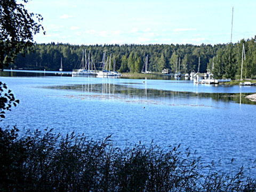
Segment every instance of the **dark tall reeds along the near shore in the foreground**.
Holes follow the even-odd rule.
[[[102,141],[52,130],[21,137],[0,129],[1,191],[255,191],[241,170],[218,172],[179,146],[142,145],[121,150]]]

